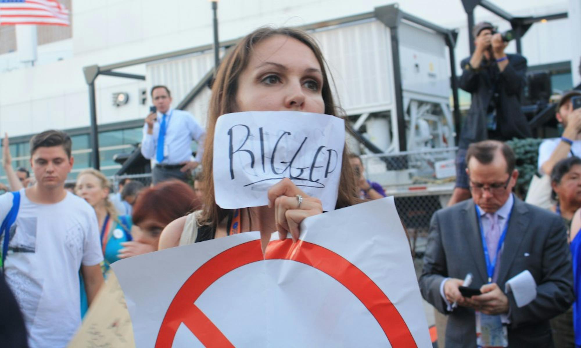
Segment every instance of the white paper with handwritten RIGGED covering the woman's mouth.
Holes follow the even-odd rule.
[[[250,111],[218,118],[214,190],[224,209],[268,204],[267,191],[289,177],[335,209],[345,146],[343,119],[297,111]]]

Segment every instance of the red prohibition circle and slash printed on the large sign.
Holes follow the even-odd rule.
[[[349,289],[370,311],[392,347],[417,347],[410,329],[388,296],[342,256],[317,244],[292,240],[271,241],[263,256],[260,240],[246,242],[214,256],[196,270],[175,295],[157,334],[156,348],[170,348],[183,322],[206,347],[234,347],[195,305],[213,282],[238,267],[263,260],[292,260],[318,269]]]

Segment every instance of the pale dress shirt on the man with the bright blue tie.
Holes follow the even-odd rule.
[[[196,162],[202,161],[203,143],[206,131],[188,111],[170,108],[166,113],[166,137],[164,139],[164,158],[162,164],[180,164],[191,160],[192,140],[198,142]],[[141,153],[148,160],[154,160],[157,150],[157,137],[163,119],[163,114],[157,112],[157,120],[153,124],[153,134],[148,134],[148,125],[144,125],[144,136],[141,141]]]

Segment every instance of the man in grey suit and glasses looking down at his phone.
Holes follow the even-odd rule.
[[[548,320],[574,300],[565,226],[554,213],[514,197],[518,171],[507,145],[471,144],[466,161],[472,200],[432,217],[419,278],[422,296],[448,314],[447,347],[476,347],[477,316],[497,320],[509,347],[552,347]],[[536,297],[518,307],[526,289],[507,292],[505,284],[525,270],[525,288],[536,289]],[[458,287],[468,273],[470,287],[482,295],[461,295]]]

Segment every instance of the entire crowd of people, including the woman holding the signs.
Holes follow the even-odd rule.
[[[553,203],[540,208],[523,202],[512,193],[519,172],[503,141],[532,134],[520,104],[526,59],[505,53],[507,43],[490,23],[477,24],[474,37],[475,52],[461,63],[460,86],[472,93],[472,105],[460,133],[456,189],[450,206],[432,217],[419,288],[447,314],[446,346],[581,346],[575,300],[581,279],[581,108],[572,106],[581,92],[562,96],[557,119],[565,131],[539,148],[539,176],[547,177]],[[145,118],[141,144],[152,161],[148,187],[122,180],[113,190],[95,169],[65,184],[74,165],[71,138],[55,130],[30,140],[33,175],[26,168],[14,171],[6,135],[0,346],[66,346],[117,260],[255,230],[263,248],[276,231],[281,239],[297,240],[302,220],[323,210],[318,198],[290,179],[268,190],[267,206],[216,204],[214,129],[218,117],[238,111],[339,117],[329,81],[309,35],[260,28],[221,62],[206,129],[171,108],[167,86],[154,86],[155,108]],[[198,143],[195,157],[192,141]],[[336,209],[386,196],[380,184],[365,179],[361,157],[345,146],[340,158]]]

